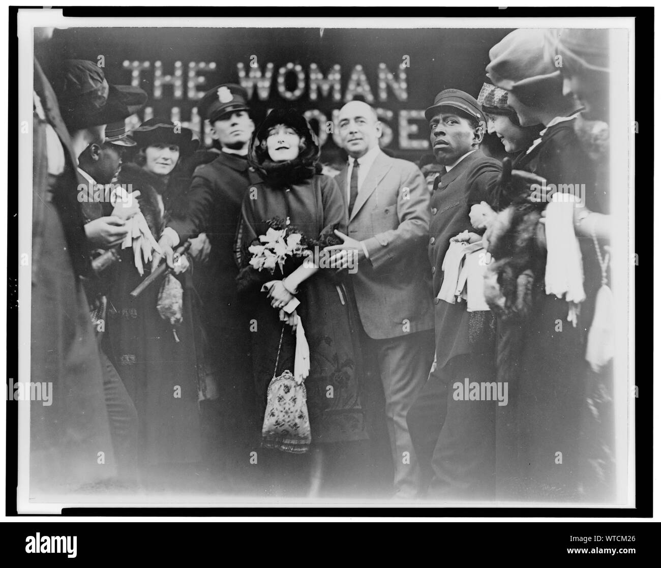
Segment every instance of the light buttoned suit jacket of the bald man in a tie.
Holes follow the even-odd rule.
[[[346,202],[345,167],[336,177]],[[411,162],[379,152],[348,216],[348,235],[364,241],[369,259],[352,274],[362,325],[373,339],[434,327],[426,257],[429,190]]]

